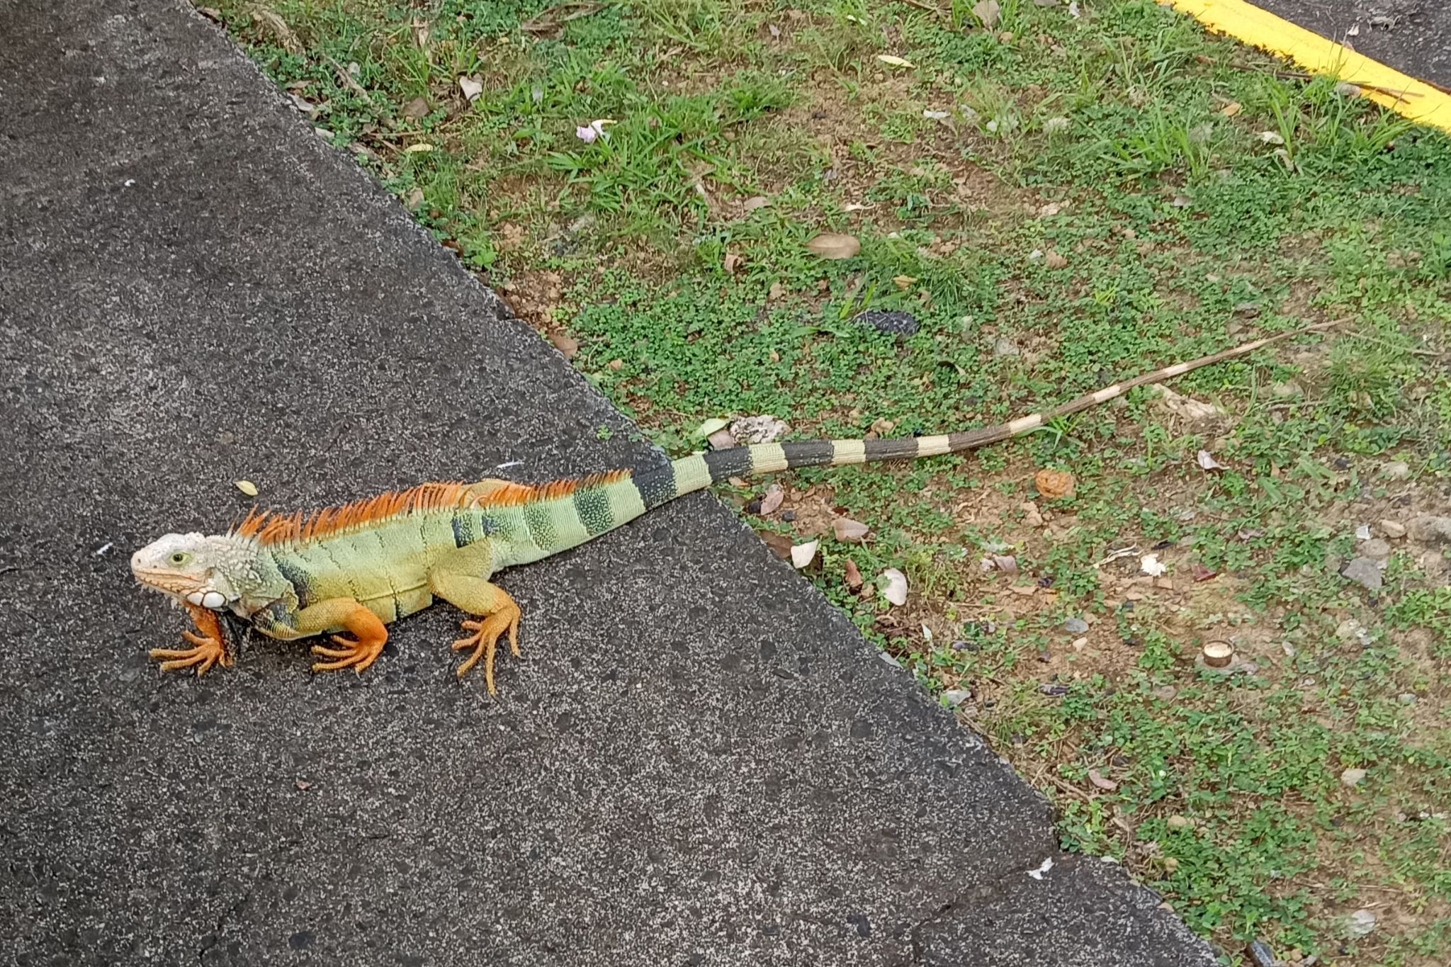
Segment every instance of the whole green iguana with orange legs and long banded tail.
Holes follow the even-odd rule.
[[[472,634],[453,644],[454,651],[470,651],[459,676],[482,657],[492,694],[493,654],[503,632],[519,655],[519,606],[489,583],[496,571],[585,544],[727,477],[974,449],[1106,403],[1133,387],[1322,328],[1257,339],[1116,383],[1045,413],[959,433],[712,449],[640,473],[617,470],[540,486],[505,480],[425,483],[311,515],[254,509],[226,534],[168,534],[132,555],[136,580],[186,607],[197,628],[197,634],[183,632],[193,648],[157,648],[151,657],[161,660],[163,671],[194,667],[203,674],[216,663],[231,665],[219,613],[232,612],[261,634],[284,641],[331,634],[335,647],[312,648],[324,658],[312,670],[363,671],[383,651],[385,625],[441,597],[472,615],[463,622]]]

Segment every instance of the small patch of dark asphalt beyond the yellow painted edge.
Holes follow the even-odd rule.
[[[1255,6],[1402,74],[1451,87],[1451,4],[1444,0],[1255,0]]]

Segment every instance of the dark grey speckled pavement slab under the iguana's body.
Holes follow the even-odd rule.
[[[361,677],[158,674],[128,554],[232,480],[660,455],[189,7],[0,36],[0,960],[1213,963],[708,494],[505,573],[498,699],[445,606]]]

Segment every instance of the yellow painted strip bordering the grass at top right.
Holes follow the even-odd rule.
[[[1290,58],[1310,74],[1329,74],[1355,84],[1377,104],[1451,133],[1451,94],[1244,0],[1159,0],[1190,14],[1210,30]]]

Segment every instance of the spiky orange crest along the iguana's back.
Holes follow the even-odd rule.
[[[406,490],[389,490],[376,497],[354,500],[337,507],[324,507],[311,513],[300,510],[297,513],[277,513],[276,510],[252,507],[232,534],[254,538],[267,547],[302,544],[360,531],[411,513],[464,507],[512,507],[559,500],[577,490],[612,484],[628,476],[628,470],[617,470],[573,480],[554,480],[546,484],[518,484],[505,480],[483,480],[473,484],[460,481],[427,483]]]

